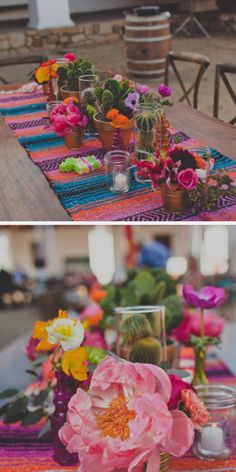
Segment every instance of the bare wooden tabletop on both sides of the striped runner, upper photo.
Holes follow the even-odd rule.
[[[236,160],[236,128],[176,103],[171,124]],[[0,119],[0,221],[71,221],[40,169]]]

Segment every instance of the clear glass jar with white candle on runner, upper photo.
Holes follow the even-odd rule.
[[[110,151],[104,156],[107,188],[114,193],[129,191],[130,154],[125,151]]]

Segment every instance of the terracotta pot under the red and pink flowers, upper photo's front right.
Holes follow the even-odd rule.
[[[182,190],[177,184],[172,184],[171,188],[167,185],[160,185],[163,206],[170,213],[180,213],[191,208],[191,202],[188,192]]]

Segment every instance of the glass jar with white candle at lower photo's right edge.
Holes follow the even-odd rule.
[[[196,433],[193,452],[202,459],[227,459],[235,450],[236,390],[222,385],[200,385],[196,390],[210,419]]]

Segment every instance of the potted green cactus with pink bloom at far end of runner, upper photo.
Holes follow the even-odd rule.
[[[79,100],[79,77],[93,74],[93,66],[87,60],[72,53],[64,56],[66,63],[58,67],[58,88],[63,99],[76,97]]]

